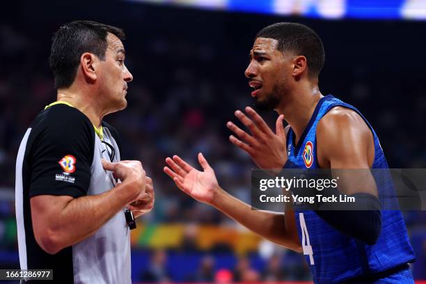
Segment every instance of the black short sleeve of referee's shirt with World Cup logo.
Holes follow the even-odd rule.
[[[95,148],[93,125],[79,110],[66,105],[46,111],[30,153],[29,197],[85,196]]]

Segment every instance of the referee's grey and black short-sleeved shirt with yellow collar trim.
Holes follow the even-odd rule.
[[[55,104],[38,114],[19,147],[15,184],[19,262],[21,269],[53,269],[54,281],[49,283],[132,283],[130,234],[123,211],[94,235],[54,255],[43,251],[33,234],[31,197],[79,198],[115,186],[101,159],[120,161],[118,135],[110,125],[102,125],[104,142],[83,113]]]

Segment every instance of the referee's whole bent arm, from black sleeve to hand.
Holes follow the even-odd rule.
[[[54,254],[92,235],[143,194],[145,172],[139,161],[107,163],[104,168],[122,183],[103,194],[88,195],[90,180],[95,178],[91,171],[93,125],[74,108],[59,106],[48,111],[33,129],[28,198],[36,242]]]

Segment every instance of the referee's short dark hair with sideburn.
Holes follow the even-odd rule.
[[[90,52],[105,60],[108,33],[125,39],[122,29],[91,21],[74,21],[61,26],[52,38],[49,65],[55,79],[55,88],[68,88],[74,82],[81,54]]]

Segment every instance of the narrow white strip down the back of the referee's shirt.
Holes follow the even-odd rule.
[[[26,262],[26,241],[25,241],[25,226],[24,226],[24,187],[22,181],[22,164],[26,150],[26,142],[28,141],[31,128],[27,129],[19,145],[19,151],[16,158],[16,179],[15,179],[15,210],[16,210],[16,225],[17,237],[19,246],[19,263],[21,269],[28,269]]]

